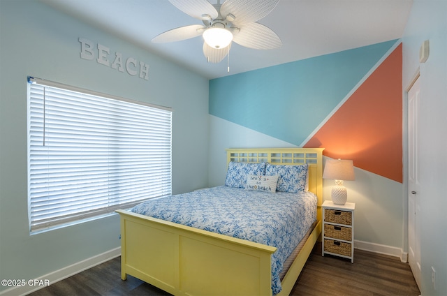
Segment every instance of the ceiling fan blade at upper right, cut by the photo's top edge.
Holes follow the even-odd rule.
[[[277,6],[279,0],[226,0],[221,6],[221,15],[235,16],[233,24],[240,26],[256,22],[268,15]]]

